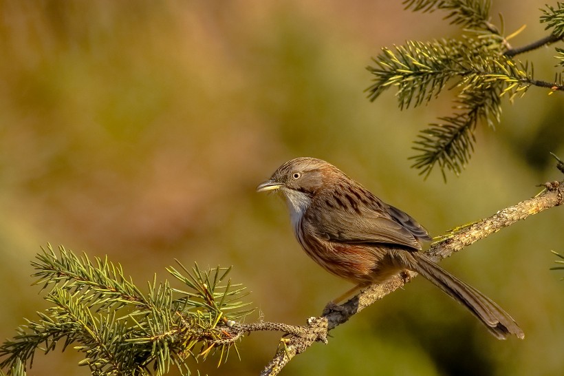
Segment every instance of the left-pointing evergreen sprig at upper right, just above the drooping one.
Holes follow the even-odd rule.
[[[459,79],[463,91],[481,89],[497,81],[506,83],[502,93],[523,93],[533,80],[532,69],[518,65],[507,56],[491,54],[481,40],[441,40],[429,43],[408,41],[395,51],[382,48],[376,67],[367,70],[376,79],[367,91],[371,101],[391,86],[398,87],[400,109],[431,101],[450,79]]]

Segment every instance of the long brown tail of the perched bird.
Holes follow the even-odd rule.
[[[521,339],[525,337],[525,333],[512,317],[489,297],[439,267],[424,253],[413,252],[411,255],[415,258],[411,268],[413,271],[417,271],[457,302],[466,306],[499,340],[505,340],[510,334],[517,335]]]

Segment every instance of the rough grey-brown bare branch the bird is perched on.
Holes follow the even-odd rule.
[[[540,194],[517,205],[498,211],[493,216],[479,220],[468,226],[455,229],[432,244],[427,255],[435,262],[446,258],[453,253],[468,247],[492,233],[495,233],[510,224],[523,220],[528,216],[539,213],[545,209],[556,207],[564,203],[564,182],[547,182],[541,185],[545,189]],[[306,326],[292,326],[287,324],[258,322],[253,324],[232,324],[226,332],[234,337],[250,331],[282,331],[279,348],[274,358],[265,366],[261,376],[277,375],[290,360],[307,350],[314,342],[327,343],[327,333],[340,324],[347,322],[356,313],[367,306],[382,299],[409,282],[417,273],[407,272],[405,275],[396,275],[389,282],[370,286],[361,291],[340,306],[328,305],[320,317],[310,317]]]

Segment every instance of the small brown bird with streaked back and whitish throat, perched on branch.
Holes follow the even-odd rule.
[[[407,269],[466,306],[500,340],[525,336],[495,302],[421,252],[421,242],[431,238],[417,221],[325,160],[289,160],[257,191],[283,194],[305,253],[329,273],[357,284],[347,296]]]

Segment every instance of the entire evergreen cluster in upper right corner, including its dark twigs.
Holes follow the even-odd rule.
[[[400,109],[426,104],[445,87],[457,90],[455,114],[442,116],[431,123],[415,140],[417,152],[410,159],[420,174],[429,176],[438,166],[446,179],[446,171],[458,175],[470,160],[475,145],[475,129],[479,123],[492,127],[501,116],[501,97],[513,101],[523,96],[532,85],[554,92],[564,90],[561,74],[554,82],[534,79],[531,63],[514,60],[514,56],[528,52],[559,38],[563,26],[564,3],[558,9],[548,7],[543,20],[554,28],[554,34],[541,41],[510,48],[506,37],[489,21],[488,0],[407,0],[406,9],[422,12],[448,11],[446,19],[461,25],[464,34],[458,39],[431,42],[408,41],[393,49],[382,48],[367,70],[373,75],[368,87],[370,101],[375,101],[389,87],[397,87]],[[508,37],[510,38],[510,37]],[[564,66],[564,50],[557,49],[556,58]]]

